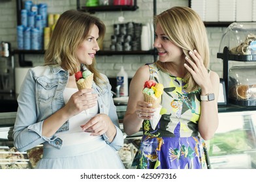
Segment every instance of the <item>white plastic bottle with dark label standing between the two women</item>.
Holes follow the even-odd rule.
[[[116,86],[120,85],[120,97],[128,96],[128,75],[121,66],[121,70],[116,75]]]

